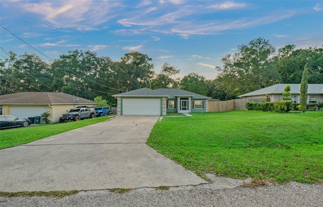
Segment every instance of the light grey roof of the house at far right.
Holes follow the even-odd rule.
[[[291,87],[291,94],[300,94],[300,84],[276,84],[267,88],[252,91],[250,93],[242,94],[239,97],[257,96],[266,94],[282,94],[287,85]],[[323,84],[308,84],[308,94],[323,94]]]

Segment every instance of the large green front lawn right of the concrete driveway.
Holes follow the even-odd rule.
[[[164,118],[147,144],[205,178],[323,182],[323,112],[231,111]]]

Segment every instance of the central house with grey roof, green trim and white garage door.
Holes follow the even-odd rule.
[[[207,112],[210,97],[182,89],[141,88],[113,95],[118,115],[166,115],[167,113]]]

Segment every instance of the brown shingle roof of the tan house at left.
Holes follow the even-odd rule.
[[[78,100],[77,100],[78,99]],[[74,100],[74,101],[73,101]],[[0,96],[0,104],[95,104],[94,101],[62,92],[20,92]]]

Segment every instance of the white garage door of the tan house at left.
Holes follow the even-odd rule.
[[[10,115],[16,116],[19,118],[28,118],[40,116],[40,114],[47,111],[46,106],[11,106],[10,107]]]

